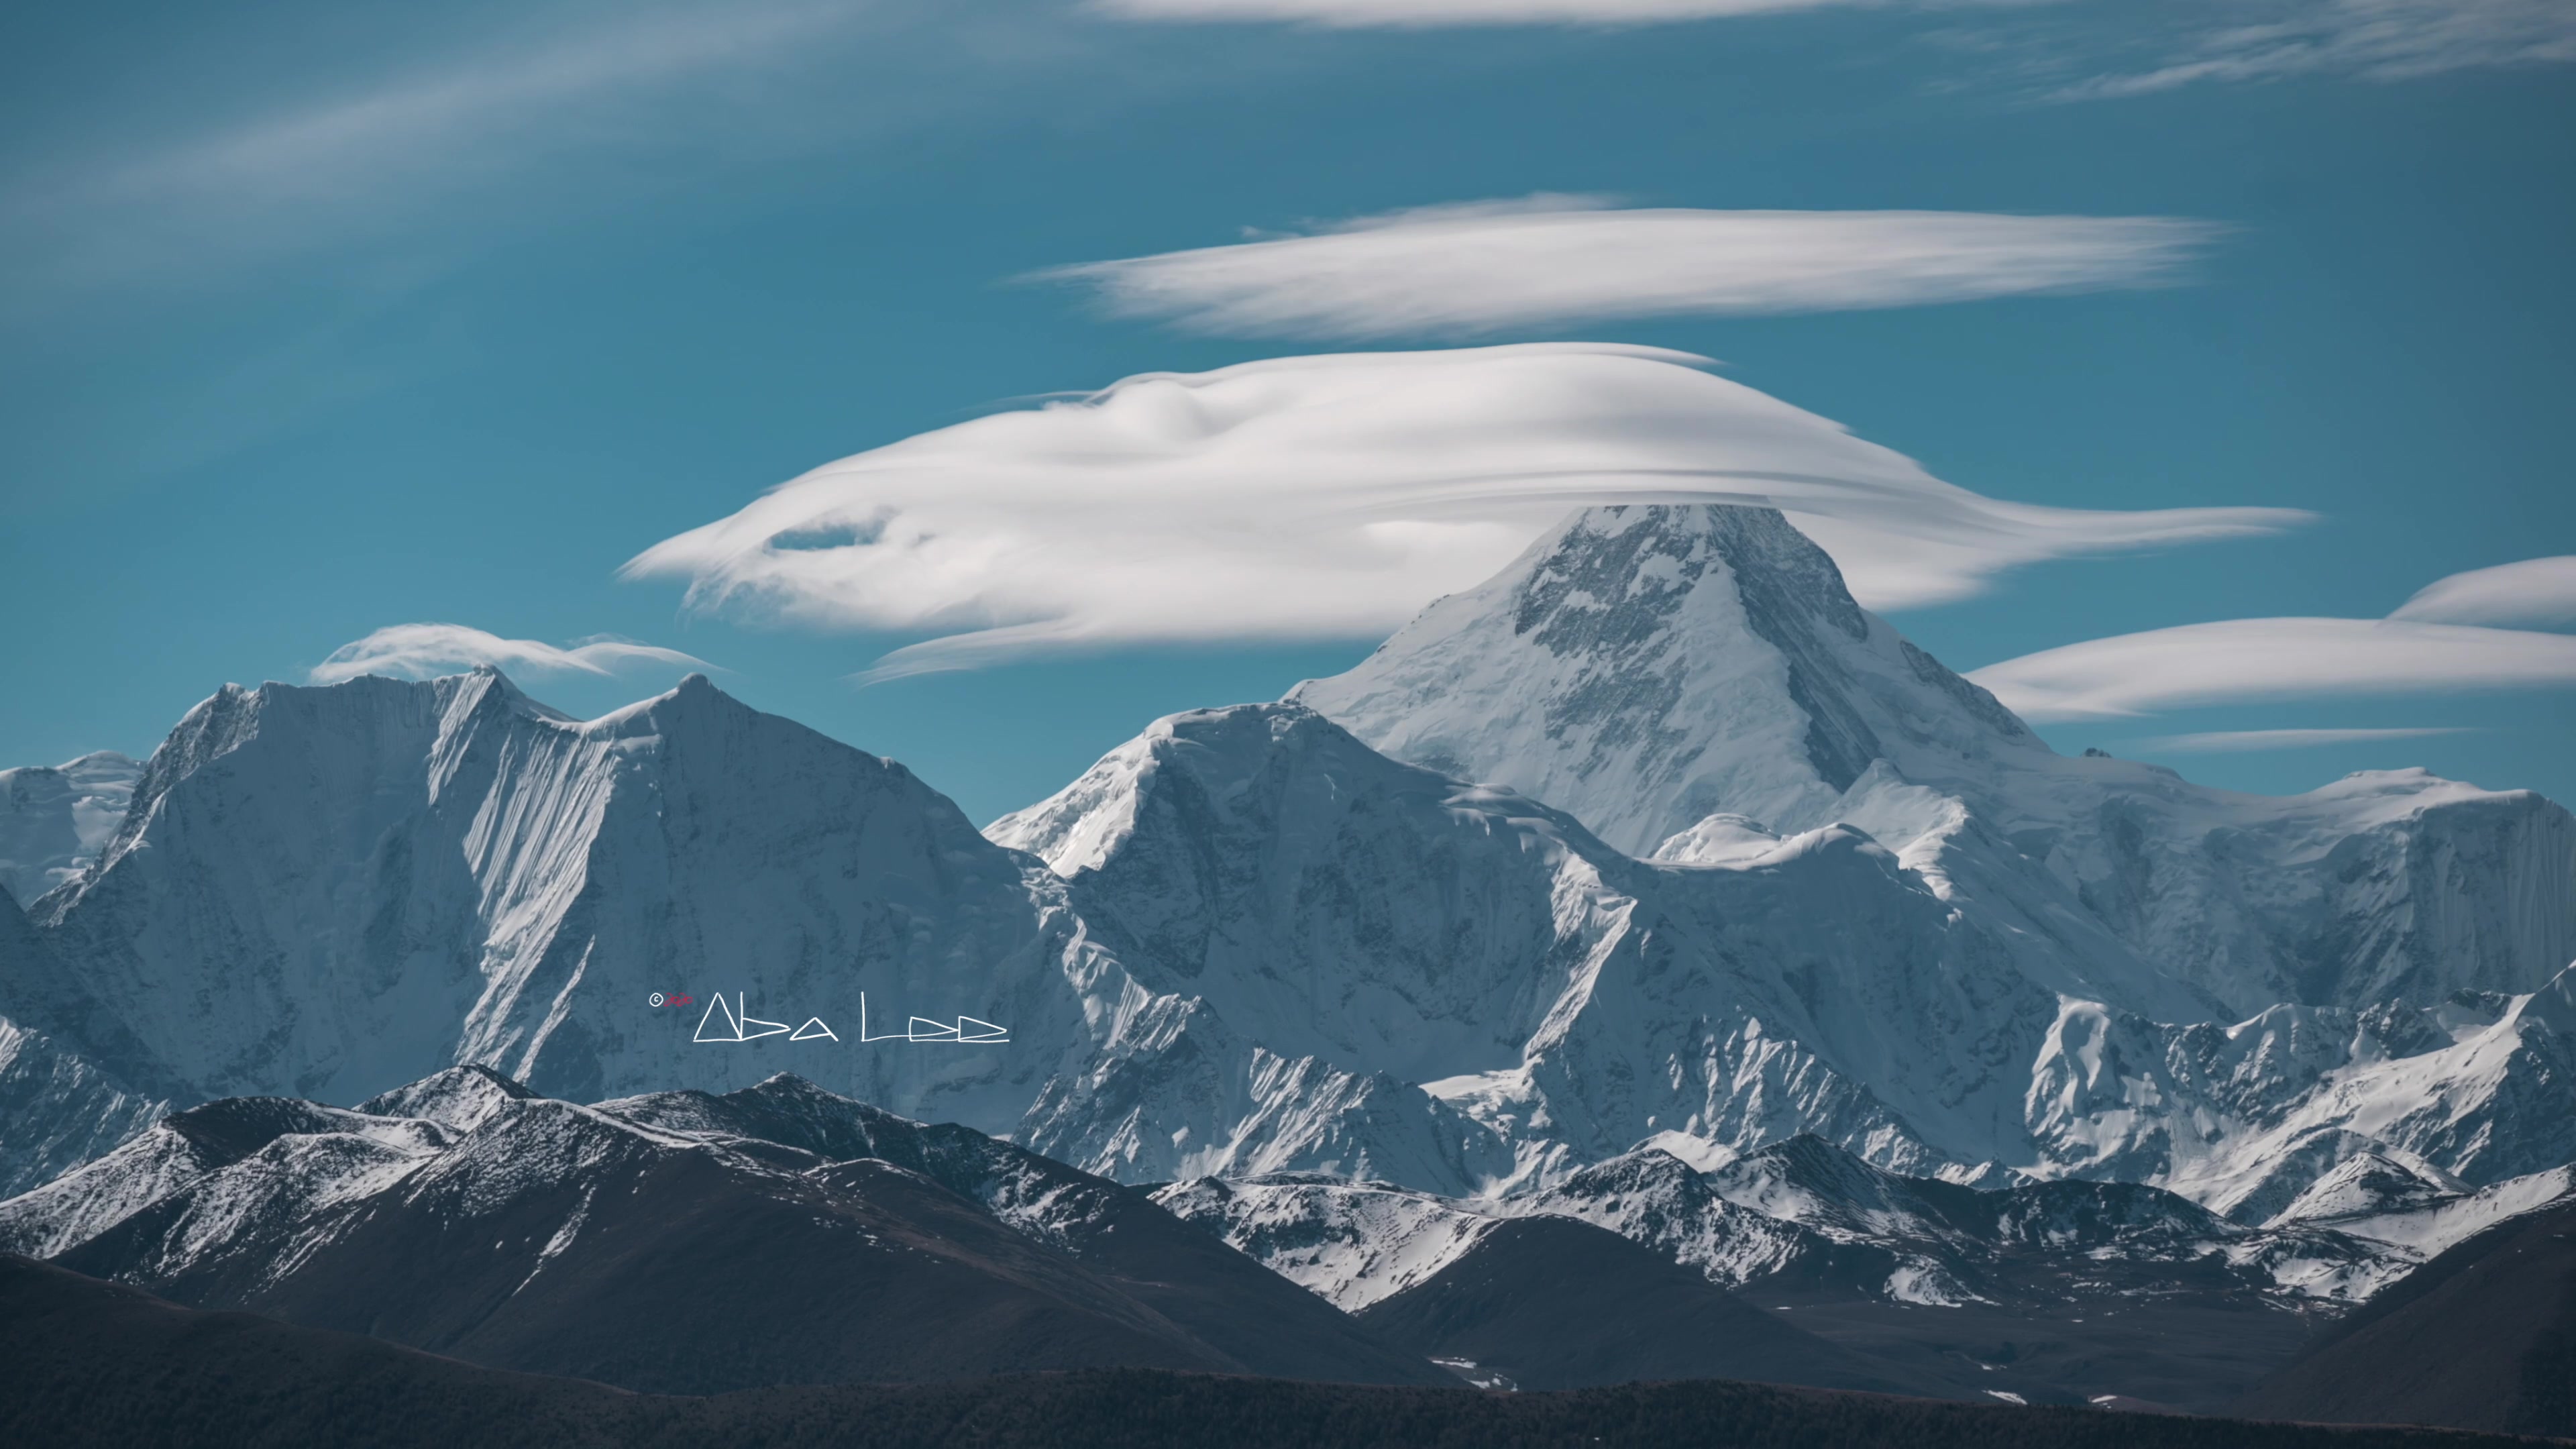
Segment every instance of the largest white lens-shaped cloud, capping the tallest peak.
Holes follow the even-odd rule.
[[[1525,343],[1144,374],[824,464],[626,575],[683,578],[693,608],[933,634],[881,660],[889,678],[1108,642],[1383,634],[1587,503],[1777,503],[1880,608],[2020,562],[2306,521],[1981,498],[1703,364]]]

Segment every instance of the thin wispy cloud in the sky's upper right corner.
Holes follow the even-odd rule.
[[[2071,88],[2141,95],[2202,80],[2352,75],[2411,80],[2450,70],[2576,62],[2568,0],[2236,0],[2164,62]]]

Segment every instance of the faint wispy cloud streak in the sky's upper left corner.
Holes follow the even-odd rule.
[[[13,157],[0,266],[108,284],[363,242],[371,276],[415,281],[528,217],[971,111],[1100,26],[1020,3],[961,23],[933,0],[533,0],[412,31],[392,54],[335,31],[319,67],[281,44],[157,139]]]

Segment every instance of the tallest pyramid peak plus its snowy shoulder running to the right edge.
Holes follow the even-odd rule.
[[[1577,513],[1291,699],[1633,853],[1698,859],[1721,812],[1857,825],[2025,913],[2097,918],[2205,990],[2210,1018],[2527,993],[2576,959],[2566,810],[2421,771],[2264,799],[2058,758],[1765,508]]]

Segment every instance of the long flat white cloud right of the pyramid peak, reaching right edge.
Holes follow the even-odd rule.
[[[2087,639],[1968,678],[2032,722],[2200,704],[2576,686],[2576,637],[2414,619],[2223,619]]]

